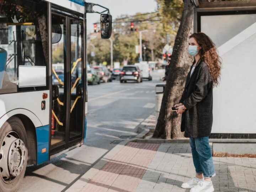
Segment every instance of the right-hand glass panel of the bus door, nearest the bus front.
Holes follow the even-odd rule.
[[[70,34],[71,34],[71,105],[70,105],[70,127],[69,140],[70,145],[74,144],[74,140],[82,138],[83,129],[83,81],[82,81],[82,37],[83,37],[83,22],[75,19],[70,19]],[[76,142],[75,142],[76,143]]]

